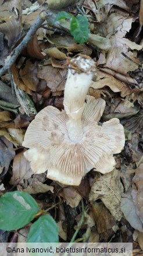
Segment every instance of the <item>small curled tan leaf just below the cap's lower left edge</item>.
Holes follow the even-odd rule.
[[[30,175],[31,177],[31,175]],[[48,186],[47,184],[42,184],[40,181],[33,181],[30,185],[27,186],[26,189],[23,189],[22,186],[18,185],[17,189],[19,191],[23,191],[29,193],[30,195],[37,194],[37,193],[46,193],[51,191],[53,193],[53,186]]]

